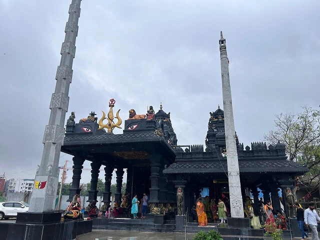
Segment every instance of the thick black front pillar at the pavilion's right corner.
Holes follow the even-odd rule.
[[[152,154],[150,155],[150,200],[149,203],[159,202],[159,170],[160,170],[161,155]]]

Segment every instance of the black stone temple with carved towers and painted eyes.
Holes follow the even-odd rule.
[[[110,111],[108,115],[112,115]],[[105,131],[97,120],[67,122],[61,151],[74,156],[70,201],[75,192],[80,191],[84,160],[91,161],[92,168],[88,201],[97,198],[96,183],[98,177],[102,178],[101,175],[104,175],[103,202],[110,202],[110,184],[114,169],[115,201],[121,202],[122,177],[126,169],[128,199],[135,194],[142,196],[146,192],[149,195],[150,215],[164,213],[173,218],[178,217],[178,187],[183,189],[183,213],[188,211],[187,214],[191,214],[190,209],[195,198],[203,188],[209,189],[210,198],[229,197],[224,112],[219,106],[208,113],[205,145],[189,145],[183,148],[177,144],[170,113],[163,111],[162,105],[148,119],[144,118],[144,114],[134,116],[131,115],[131,119],[124,121],[122,134]],[[250,146],[244,147],[237,136],[235,139],[242,201],[246,195],[252,193],[254,203],[257,204],[261,191],[264,200],[271,199],[274,209],[280,209],[279,189],[282,189],[282,204],[285,205],[285,192],[287,188],[292,190],[294,187],[294,176],[305,173],[308,168],[286,160],[285,146],[280,142],[268,146],[263,142],[251,142]],[[99,172],[101,165],[104,166],[102,173]],[[230,217],[232,218],[232,215]]]

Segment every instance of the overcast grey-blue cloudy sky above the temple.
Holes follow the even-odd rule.
[[[0,175],[7,178],[33,178],[41,161],[70,2],[0,0]],[[162,102],[178,144],[204,144],[209,112],[222,106],[222,30],[235,129],[250,145],[273,129],[274,114],[318,109],[319,10],[318,0],[82,0],[66,118],[91,110],[101,117],[110,98],[122,119],[130,108],[142,114]],[[71,159],[61,154],[60,165]],[[90,181],[89,171],[82,176]]]

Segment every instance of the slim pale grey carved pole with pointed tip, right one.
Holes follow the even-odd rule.
[[[220,32],[219,40],[221,78],[222,78],[222,99],[224,111],[225,147],[227,156],[228,182],[230,193],[231,217],[243,218],[243,205],[239,175],[238,154],[236,151],[235,129],[232,110],[231,87],[229,79],[229,60],[226,54],[225,39]]]

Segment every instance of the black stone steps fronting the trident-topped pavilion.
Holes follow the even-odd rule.
[[[164,220],[163,224],[155,223],[154,218],[93,218],[92,229],[172,232],[174,220]]]

